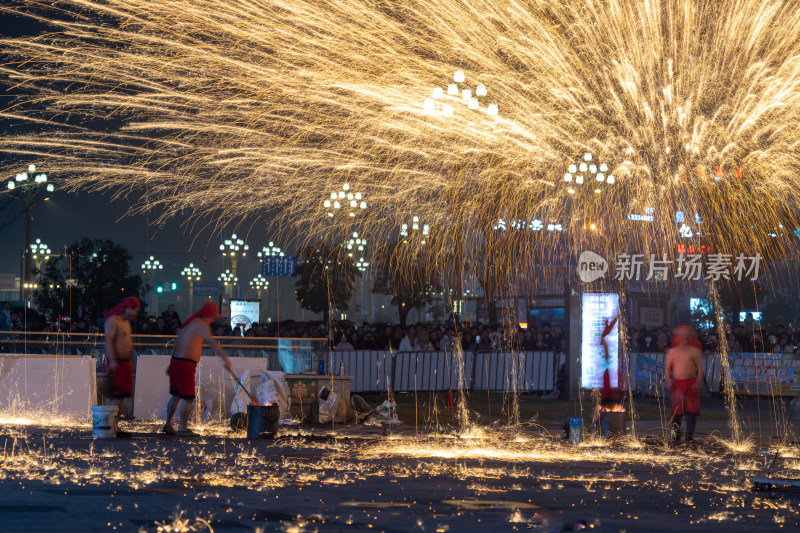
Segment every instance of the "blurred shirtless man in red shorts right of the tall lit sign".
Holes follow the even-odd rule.
[[[675,442],[681,440],[681,421],[686,415],[686,442],[694,438],[697,415],[700,414],[700,388],[703,385],[703,353],[700,341],[689,326],[673,332],[672,347],[667,350],[664,378],[670,389],[672,429]]]

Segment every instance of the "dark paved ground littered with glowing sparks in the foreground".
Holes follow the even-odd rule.
[[[571,446],[558,423],[438,434],[380,427],[283,428],[249,441],[224,426],[199,438],[129,425],[7,421],[0,530],[14,531],[780,531],[800,525],[800,494],[753,491],[767,473],[800,478],[791,439],[728,443],[724,420],[669,447],[661,423],[639,439]]]

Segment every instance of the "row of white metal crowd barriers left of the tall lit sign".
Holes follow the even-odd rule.
[[[334,351],[331,368],[353,377],[352,392],[468,390],[542,391],[556,388],[566,355],[553,352]],[[459,368],[459,366],[461,368]],[[460,376],[460,381],[459,381]]]

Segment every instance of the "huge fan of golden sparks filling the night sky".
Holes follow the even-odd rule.
[[[1,41],[0,71],[19,98],[0,117],[28,127],[0,150],[162,217],[261,216],[285,240],[333,242],[355,228],[382,242],[423,214],[428,253],[468,256],[493,240],[494,256],[517,264],[557,244],[673,251],[676,211],[700,213],[704,244],[729,253],[782,255],[797,227],[793,2],[0,10],[48,26]],[[584,154],[607,172],[565,181]],[[343,183],[369,209],[332,222],[323,202]],[[628,220],[646,212],[652,221]],[[509,229],[493,232],[500,219]]]

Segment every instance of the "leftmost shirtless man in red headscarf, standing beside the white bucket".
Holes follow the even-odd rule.
[[[133,340],[131,323],[140,307],[139,300],[129,296],[106,314],[105,348],[106,372],[110,381],[111,404],[117,406],[117,420],[122,412],[122,402],[133,395]],[[130,437],[127,431],[119,429],[117,437]]]

